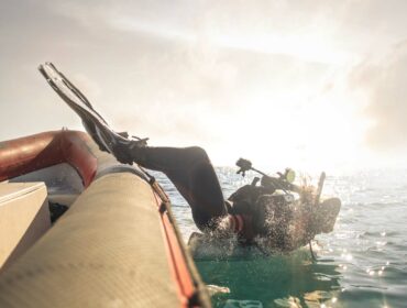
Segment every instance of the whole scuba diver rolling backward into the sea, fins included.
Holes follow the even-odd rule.
[[[116,156],[122,164],[133,163],[164,173],[191,208],[193,218],[205,233],[235,233],[241,243],[266,239],[270,246],[290,251],[309,243],[319,233],[331,232],[339,213],[338,198],[319,201],[323,177],[318,189],[299,187],[287,169],[271,177],[239,160],[238,173],[252,169],[262,174],[224,200],[219,179],[205,150],[198,146],[153,147],[146,139],[130,138],[110,129],[87,98],[52,63],[40,66],[58,96],[81,118],[87,132],[101,151]],[[290,179],[292,178],[292,179]],[[260,185],[257,183],[260,182]],[[283,191],[284,194],[278,194]],[[299,195],[295,200],[293,193]]]

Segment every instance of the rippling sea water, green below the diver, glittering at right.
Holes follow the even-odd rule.
[[[250,183],[217,168],[224,196]],[[184,239],[197,231],[186,201],[160,176]],[[317,182],[317,180],[315,180]],[[407,170],[328,175],[342,200],[333,232],[290,254],[196,257],[213,307],[407,307]]]

